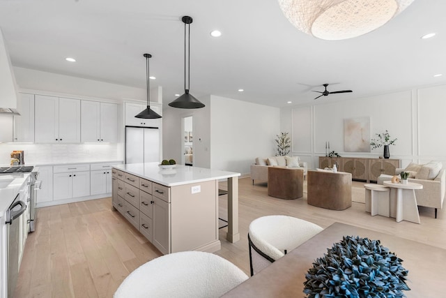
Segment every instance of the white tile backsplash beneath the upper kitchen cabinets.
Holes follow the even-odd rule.
[[[24,151],[24,161],[29,164],[81,163],[118,161],[119,144],[13,144],[0,143],[0,165],[10,164],[10,153]]]

